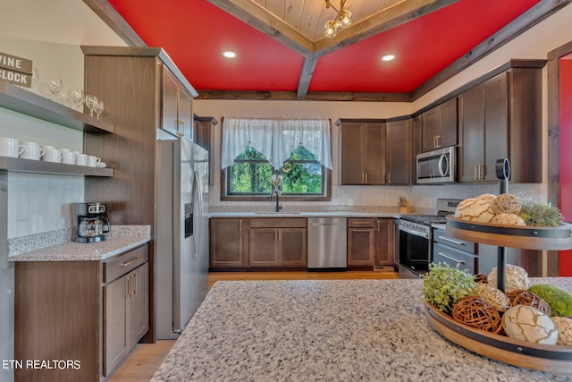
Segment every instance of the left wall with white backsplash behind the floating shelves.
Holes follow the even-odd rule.
[[[29,91],[42,94],[41,85],[51,78],[62,79],[65,90],[83,89],[80,45],[125,46],[81,1],[3,2],[0,52],[32,60],[39,81]],[[0,137],[83,149],[82,132],[4,108]],[[71,227],[70,203],[83,201],[83,183],[80,176],[9,174],[8,239]]]

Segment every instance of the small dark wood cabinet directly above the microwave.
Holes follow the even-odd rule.
[[[423,152],[457,144],[457,98],[434,106],[421,118]]]

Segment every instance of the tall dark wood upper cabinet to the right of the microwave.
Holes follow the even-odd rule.
[[[542,69],[515,67],[458,96],[458,181],[495,182],[510,161],[512,183],[542,183]]]

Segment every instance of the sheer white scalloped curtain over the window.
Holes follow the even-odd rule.
[[[332,169],[330,121],[316,119],[266,119],[224,117],[221,167],[252,146],[268,158],[273,168],[281,168],[299,145],[314,154],[324,167]]]

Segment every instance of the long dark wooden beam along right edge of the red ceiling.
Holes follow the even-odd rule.
[[[561,8],[572,3],[572,0],[543,0],[535,4],[526,13],[521,14],[516,20],[510,22],[506,27],[502,28],[490,38],[484,40],[481,44],[471,49],[467,54],[460,57],[453,64],[450,64],[441,72],[438,72],[423,85],[415,89],[411,93],[411,100],[415,101],[422,97],[430,90],[438,87],[444,81],[450,80],[459,72],[464,71],[472,64],[475,64],[486,55],[490,55],[496,49],[507,44],[513,38],[524,33],[526,30],[534,27],[540,21],[543,21],[551,14],[558,12]]]

